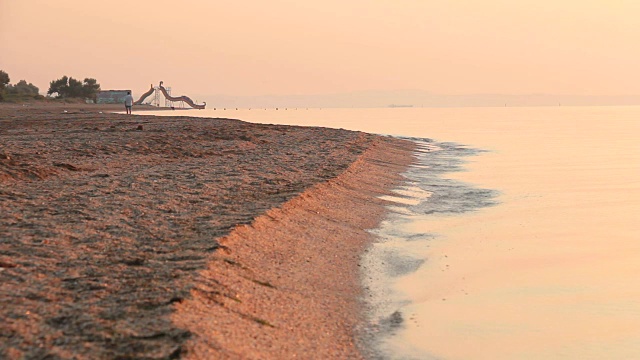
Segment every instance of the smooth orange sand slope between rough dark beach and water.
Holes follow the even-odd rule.
[[[403,181],[414,149],[379,137],[338,177],[220,239],[222,250],[172,316],[193,334],[185,358],[377,357],[361,256],[387,213],[380,196]],[[227,295],[211,296],[208,279]],[[226,316],[212,316],[221,307]]]

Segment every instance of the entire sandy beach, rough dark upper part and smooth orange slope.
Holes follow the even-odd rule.
[[[413,144],[119,108],[0,107],[0,357],[361,357]]]

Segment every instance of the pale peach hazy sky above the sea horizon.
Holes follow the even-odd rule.
[[[637,0],[0,0],[0,69],[141,94],[640,95]]]

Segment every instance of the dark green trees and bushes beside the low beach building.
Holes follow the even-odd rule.
[[[23,101],[28,99],[41,100],[40,89],[26,80],[20,80],[16,84],[10,84],[9,74],[0,70],[0,101]],[[100,84],[93,78],[85,78],[83,81],[72,77],[63,76],[49,83],[47,96],[55,99],[80,98],[91,99],[95,102],[100,91]]]

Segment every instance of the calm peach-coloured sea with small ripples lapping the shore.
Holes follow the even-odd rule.
[[[640,107],[185,115],[419,142],[363,260],[385,357],[640,358]]]

